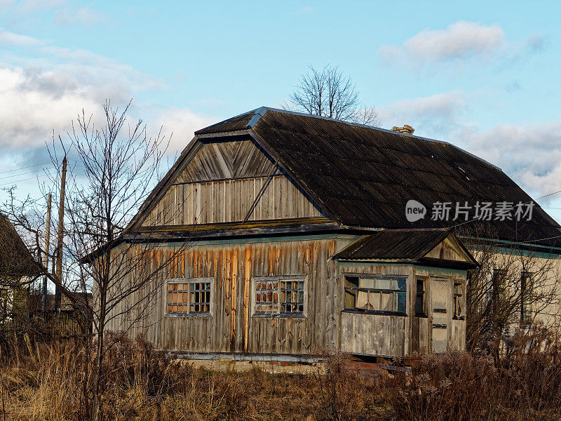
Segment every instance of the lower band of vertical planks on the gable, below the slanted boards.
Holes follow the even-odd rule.
[[[267,177],[173,185],[143,226],[241,222]],[[248,220],[322,216],[284,175],[272,178]]]

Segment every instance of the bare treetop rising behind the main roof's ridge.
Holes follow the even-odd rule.
[[[354,123],[379,124],[376,109],[361,104],[355,83],[338,66],[326,65],[320,71],[310,66],[285,108]]]

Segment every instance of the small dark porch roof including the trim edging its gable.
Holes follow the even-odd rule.
[[[361,236],[333,256],[334,260],[360,261],[411,261],[428,262],[443,259],[427,255],[438,244],[449,239],[458,255],[465,260],[457,265],[475,267],[477,262],[450,230],[391,230],[382,229],[376,234]]]

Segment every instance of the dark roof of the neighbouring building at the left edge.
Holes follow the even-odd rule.
[[[0,213],[0,279],[6,276],[33,276],[41,272],[18,232]]]

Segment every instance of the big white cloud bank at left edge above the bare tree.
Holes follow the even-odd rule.
[[[8,39],[24,35],[11,34]],[[99,114],[105,99],[126,103],[133,93],[163,83],[109,58],[27,37],[32,52],[0,61],[0,149],[18,153],[64,134],[84,109]],[[0,33],[1,40],[1,33]],[[22,47],[22,43],[19,45]]]

